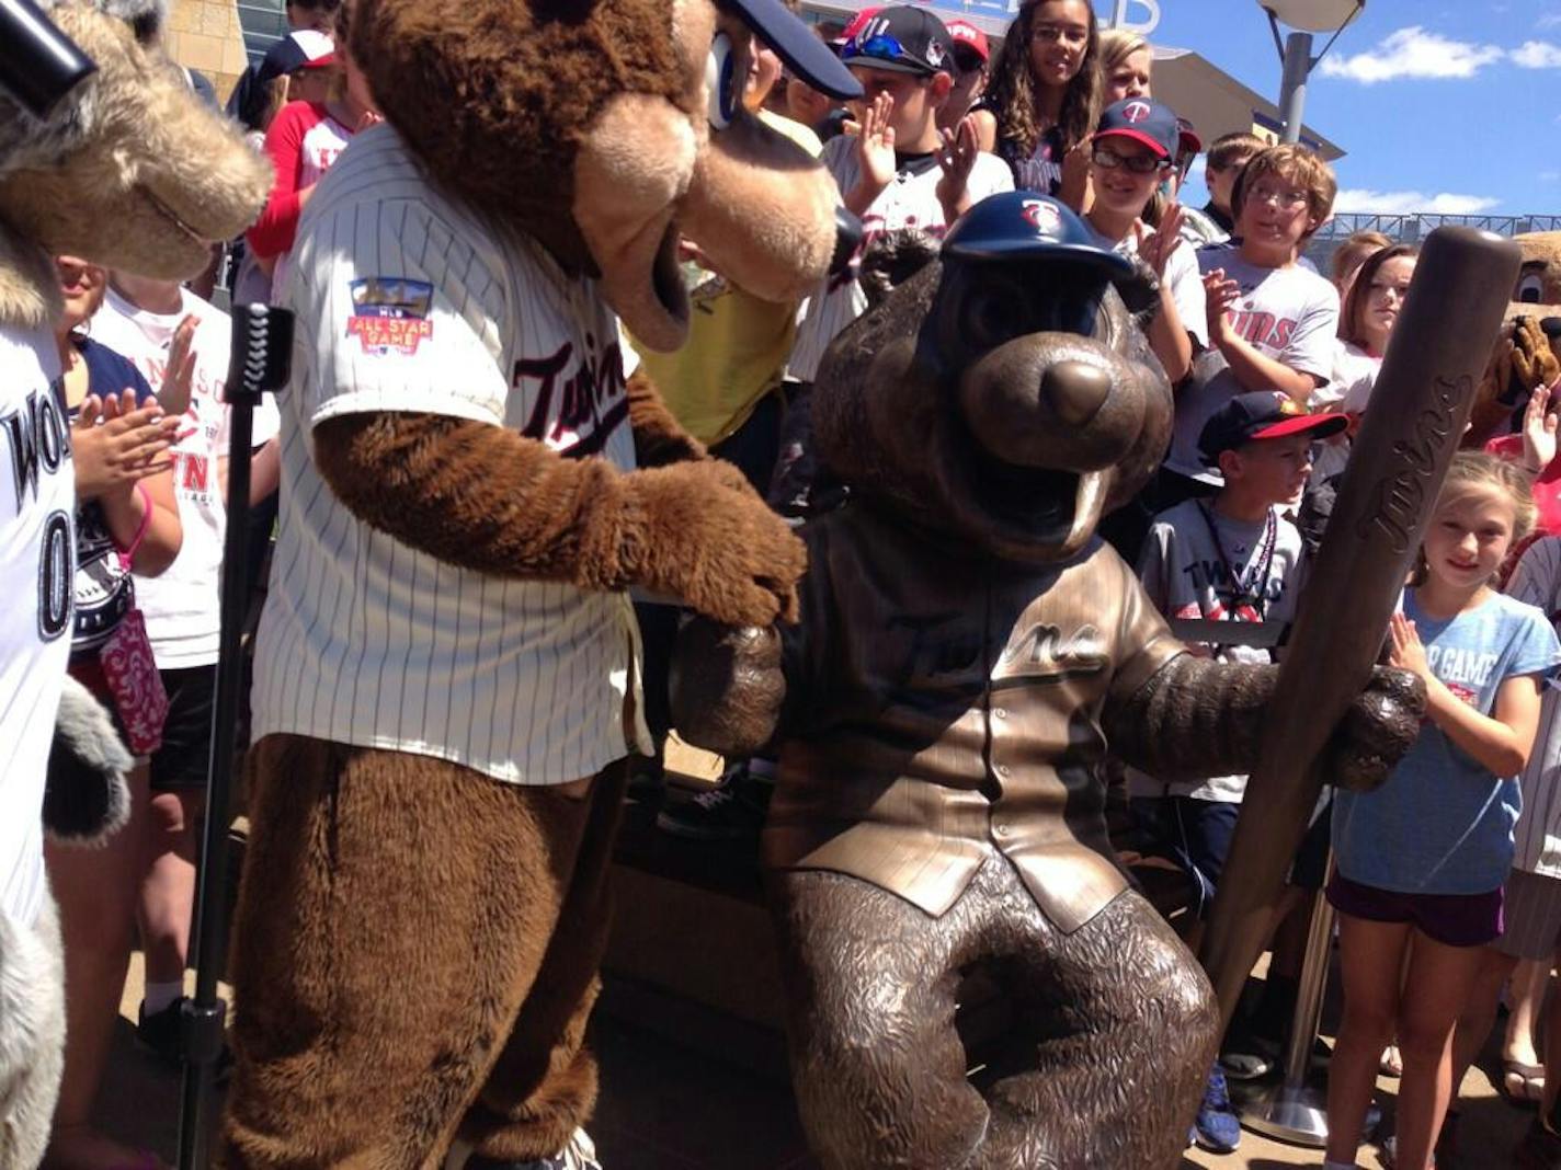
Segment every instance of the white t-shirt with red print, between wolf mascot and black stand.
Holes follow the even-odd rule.
[[[134,362],[153,392],[162,387],[173,331],[187,314],[198,321],[190,404],[173,448],[173,496],[184,540],[167,569],[156,577],[136,577],[136,604],[147,618],[151,651],[164,671],[217,661],[222,641],[222,544],[228,530],[219,460],[228,457],[231,410],[223,402],[223,387],[233,324],[228,314],[189,289],[181,289],[181,293],[176,314],[153,314],[109,289],[103,309],[92,318],[94,340]],[[276,427],[276,404],[265,398],[254,410],[253,446],[272,438]]]

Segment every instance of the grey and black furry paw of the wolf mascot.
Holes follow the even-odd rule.
[[[44,828],[67,846],[101,846],[130,819],[125,774],[134,766],[103,705],[66,677],[48,752]]]

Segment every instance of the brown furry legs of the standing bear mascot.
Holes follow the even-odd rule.
[[[582,1039],[623,766],[521,786],[272,735],[250,775],[225,1164],[431,1170],[457,1136],[496,1162],[565,1147],[596,1098]]]

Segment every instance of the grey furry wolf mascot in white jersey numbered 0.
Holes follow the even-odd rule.
[[[44,828],[59,841],[94,844],[130,811],[130,757],[103,708],[66,677],[76,499],[53,257],[192,276],[214,240],[250,225],[270,187],[268,167],[145,44],[156,36],[159,5],[45,8],[97,69],[44,112],[0,89],[3,1170],[37,1164],[59,1087],[64,980]],[[6,45],[6,53],[20,48]]]

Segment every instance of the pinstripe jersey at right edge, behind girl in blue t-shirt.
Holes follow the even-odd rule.
[[[1513,569],[1506,591],[1538,605],[1561,633],[1561,537],[1544,537]],[[1544,877],[1561,877],[1561,691],[1547,685],[1539,705],[1539,729],[1528,753],[1528,768],[1519,777],[1524,811],[1513,836],[1516,869]]]

